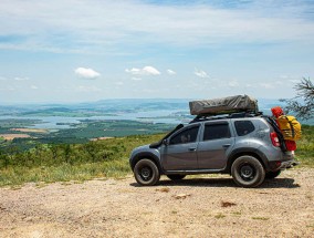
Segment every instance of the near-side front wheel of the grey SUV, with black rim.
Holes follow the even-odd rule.
[[[134,176],[139,185],[153,186],[159,182],[160,173],[153,161],[145,158],[136,163]]]

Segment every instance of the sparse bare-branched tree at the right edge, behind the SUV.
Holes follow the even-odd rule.
[[[314,85],[312,81],[303,77],[294,89],[296,96],[291,100],[283,100],[286,103],[285,111],[296,113],[296,117],[308,120],[314,117]]]

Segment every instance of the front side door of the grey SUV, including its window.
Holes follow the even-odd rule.
[[[161,164],[165,170],[191,170],[198,168],[197,147],[200,125],[180,130],[161,147]]]

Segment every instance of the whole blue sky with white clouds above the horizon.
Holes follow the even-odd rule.
[[[290,99],[313,0],[0,0],[0,104]]]

